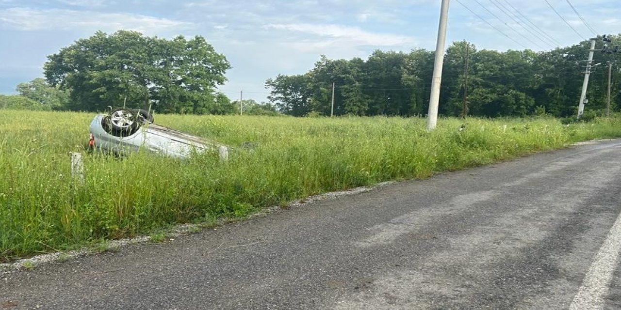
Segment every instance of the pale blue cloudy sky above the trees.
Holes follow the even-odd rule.
[[[435,50],[440,3],[0,0],[0,94],[15,94],[20,82],[43,77],[47,56],[79,38],[126,29],[206,38],[232,66],[220,91],[233,100],[243,91],[243,99],[263,102],[266,79],[306,73],[320,55],[366,59],[374,50]],[[593,37],[570,4],[595,33],[621,32],[619,0],[450,0],[446,47],[468,40],[479,50],[543,51]]]

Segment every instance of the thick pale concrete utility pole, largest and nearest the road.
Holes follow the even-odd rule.
[[[448,17],[448,0],[442,0],[440,7],[440,25],[438,25],[438,41],[435,44],[435,61],[433,62],[433,78],[427,113],[427,131],[433,130],[438,120],[438,102],[440,102],[440,84],[442,83],[442,64],[444,61],[444,42],[446,40],[446,19]]]

